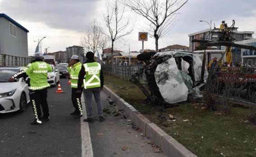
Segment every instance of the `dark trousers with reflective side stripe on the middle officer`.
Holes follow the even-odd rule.
[[[82,115],[81,96],[83,88],[81,89],[81,93],[77,92],[77,90],[77,88],[72,88],[71,100],[75,108],[75,112]]]

